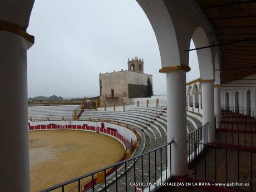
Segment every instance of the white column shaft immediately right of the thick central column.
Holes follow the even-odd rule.
[[[208,142],[215,141],[213,81],[202,83],[203,125],[209,122]]]

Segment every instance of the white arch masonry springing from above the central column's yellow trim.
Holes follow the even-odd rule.
[[[154,29],[162,67],[189,65],[189,51],[185,50],[189,50],[191,39],[196,48],[210,45],[209,37],[213,31],[193,3],[188,3],[186,0],[136,1],[146,13]],[[181,13],[180,10],[183,12]],[[184,26],[186,26],[185,30]],[[211,48],[198,50],[197,54],[201,78],[213,80]]]

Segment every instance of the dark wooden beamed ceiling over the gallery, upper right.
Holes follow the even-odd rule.
[[[221,83],[256,73],[256,1],[196,2],[208,18],[220,44]]]

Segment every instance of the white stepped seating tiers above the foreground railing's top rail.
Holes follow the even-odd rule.
[[[33,121],[46,120],[73,120],[73,110],[79,109],[78,105],[59,105],[59,106],[33,106],[28,107],[28,119],[32,117]],[[149,148],[160,146],[167,141],[167,109],[166,107],[137,107],[127,106],[125,112],[121,111],[83,111],[80,120],[105,121],[109,119],[110,122],[125,126],[129,124],[130,127],[135,127],[144,135],[145,142],[149,144]],[[188,131],[193,131],[199,127],[200,121],[196,118],[188,116]]]

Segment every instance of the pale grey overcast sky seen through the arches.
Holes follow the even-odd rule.
[[[166,94],[156,37],[135,0],[36,0],[27,32],[28,97],[99,95],[99,73],[127,69],[127,60],[144,58],[156,95]],[[196,52],[190,53],[187,81],[199,77]]]

